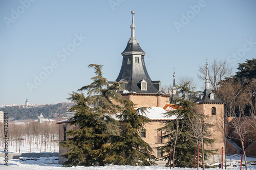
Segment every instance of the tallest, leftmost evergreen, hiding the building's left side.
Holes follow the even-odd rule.
[[[113,117],[122,108],[112,102],[120,101],[120,87],[118,83],[114,83],[106,88],[108,82],[102,77],[102,65],[90,64],[90,67],[93,67],[96,73],[92,78],[93,83],[79,89],[88,90],[88,96],[77,92],[70,94],[69,100],[76,104],[70,109],[76,111],[75,116],[70,119],[70,124],[78,126],[79,129],[66,132],[71,138],[60,142],[60,147],[68,150],[62,155],[68,159],[64,163],[65,166],[105,165],[104,160],[108,153],[104,148],[113,136],[120,133],[119,123]]]

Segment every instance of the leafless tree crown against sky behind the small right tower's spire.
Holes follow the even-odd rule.
[[[228,65],[228,63],[226,61],[217,61],[216,59],[209,64],[209,80],[210,83],[212,85],[212,87],[214,88],[214,92],[216,94],[219,94],[219,87],[222,83],[222,81],[226,78],[226,77],[230,77],[231,73],[232,73],[232,67]],[[200,74],[198,74],[198,78],[201,80],[205,80],[205,72],[206,72],[206,68],[205,66],[200,66],[199,67],[199,72]]]

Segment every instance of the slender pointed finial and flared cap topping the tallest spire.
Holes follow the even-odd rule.
[[[146,53],[141,49],[139,42],[135,37],[135,25],[134,25],[134,14],[135,11],[132,11],[133,19],[131,25],[131,38],[128,41],[125,50],[121,53],[122,56],[130,55],[130,54],[138,54],[138,55],[145,55]]]

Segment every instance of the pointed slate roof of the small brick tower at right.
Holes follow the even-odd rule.
[[[199,98],[195,101],[195,103],[224,103],[220,100],[215,93],[212,93],[210,90],[210,81],[209,81],[209,71],[208,71],[208,63],[206,58],[206,72],[205,72],[205,89],[204,92],[199,95]]]

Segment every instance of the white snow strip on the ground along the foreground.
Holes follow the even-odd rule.
[[[8,166],[4,165],[4,158],[0,157],[0,169],[3,170],[13,170],[13,169],[25,169],[25,170],[40,170],[40,169],[67,169],[67,170],[79,170],[79,169],[85,169],[85,170],[162,170],[162,169],[169,169],[169,167],[159,167],[159,166],[117,166],[117,165],[108,165],[108,166],[97,166],[97,167],[84,167],[84,166],[73,166],[73,167],[62,167],[60,164],[56,164],[57,157],[51,157],[46,158],[42,157],[38,160],[28,160],[26,161],[20,160],[20,159],[10,159],[8,160]],[[227,157],[227,164],[229,166],[227,169],[233,169],[233,170],[239,170],[240,169],[240,163],[241,161],[241,155],[232,155]],[[250,158],[247,157],[248,163],[248,169],[249,170],[256,170],[256,158]],[[254,162],[252,162],[254,161]],[[54,164],[55,163],[55,164]],[[218,164],[218,163],[217,163]],[[254,164],[254,165],[253,165]],[[172,168],[173,169],[173,168]],[[175,168],[175,170],[192,170],[193,168]],[[196,168],[195,168],[196,169]],[[199,168],[200,170],[202,168]],[[208,168],[208,170],[216,170],[219,168]],[[244,170],[245,167],[243,166],[242,169]]]

